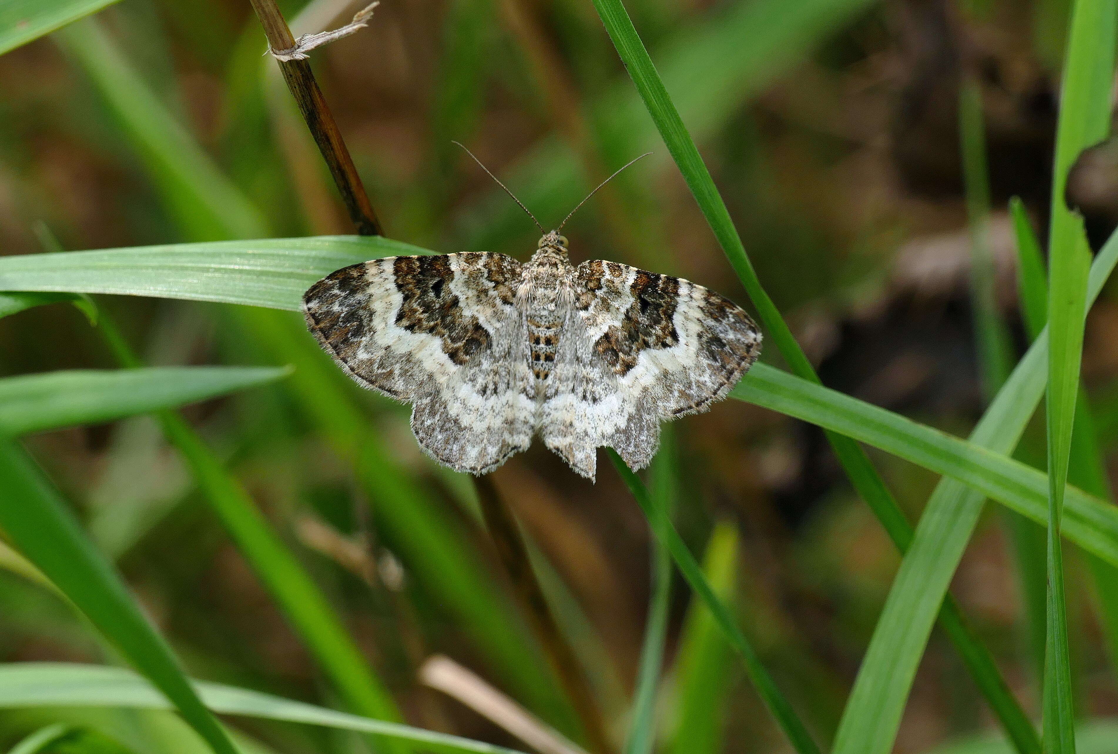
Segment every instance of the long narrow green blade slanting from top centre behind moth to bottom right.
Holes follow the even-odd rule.
[[[699,154],[699,149],[688,133],[679,111],[669,96],[664,83],[656,73],[644,44],[637,36],[625,7],[620,0],[594,0],[594,6],[617,49],[617,54],[625,63],[626,70],[641,94],[648,114],[655,122],[664,144],[675,160],[688,188],[691,189],[703,217],[707,218],[708,225],[718,238],[719,245],[741,280],[750,300],[757,307],[761,321],[769,331],[770,341],[776,344],[795,374],[819,383],[818,375],[815,374],[811,362],[757,278],[752,263],[749,260],[741,238],[730,218],[729,210],[727,210],[726,203]],[[813,6],[814,3],[805,2],[788,7],[785,3],[779,11],[779,22],[793,22],[797,13],[821,16],[819,8]],[[826,436],[854,489],[873,510],[897,548],[901,553],[906,552],[912,536],[912,528],[885,487],[883,479],[873,468],[865,451],[856,442],[840,435],[826,432]],[[956,608],[949,604],[947,610],[955,611]],[[992,661],[989,652],[978,646],[969,632],[959,630],[961,626],[961,620],[956,621],[955,626],[948,628],[948,633],[953,641],[957,642],[959,652],[966,658],[968,670],[975,671],[977,669],[975,680],[979,689],[987,697],[991,707],[997,714],[998,720],[1011,738],[1022,744],[1022,751],[1036,751],[1035,733],[1029,725],[1021,706],[1010,694],[1007,684],[1001,678],[1001,672]]]

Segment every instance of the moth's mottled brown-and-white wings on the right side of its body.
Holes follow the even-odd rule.
[[[760,343],[741,307],[702,286],[584,263],[540,435],[585,476],[594,476],[599,446],[643,468],[660,445],[660,422],[724,398]]]

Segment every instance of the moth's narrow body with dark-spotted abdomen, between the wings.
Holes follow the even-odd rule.
[[[574,298],[575,268],[567,239],[551,231],[524,265],[521,296],[528,319],[529,360],[537,381],[551,374],[559,338]]]

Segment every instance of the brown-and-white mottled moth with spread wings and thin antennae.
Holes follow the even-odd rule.
[[[528,264],[466,251],[344,267],[303,296],[307,327],[358,384],[413,403],[419,446],[455,470],[487,474],[537,436],[590,479],[603,446],[644,468],[661,422],[724,398],[761,334],[694,283],[571,265],[560,231],[585,202]]]

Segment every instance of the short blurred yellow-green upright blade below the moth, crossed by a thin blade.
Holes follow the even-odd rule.
[[[737,566],[738,532],[729,524],[717,524],[707,545],[703,572],[727,604],[732,604]],[[730,647],[710,610],[692,600],[675,662],[679,715],[672,732],[672,754],[722,751],[722,716],[731,679],[729,653]]]

